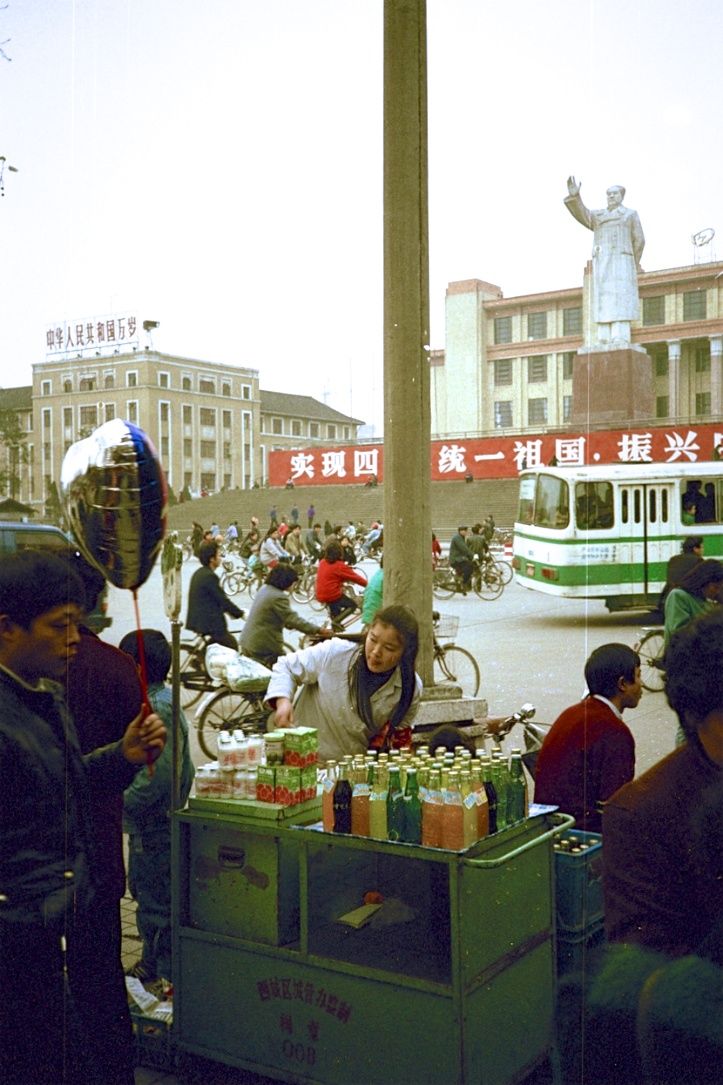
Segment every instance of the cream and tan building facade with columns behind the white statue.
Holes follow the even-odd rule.
[[[589,273],[586,270],[585,278]],[[650,356],[650,425],[702,423],[723,411],[723,263],[639,276],[633,342]],[[430,357],[432,436],[563,429],[583,344],[587,291],[581,285],[504,297],[479,279],[451,282],[444,350]]]

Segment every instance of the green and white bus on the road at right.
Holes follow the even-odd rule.
[[[723,557],[723,462],[540,467],[520,474],[512,565],[525,588],[655,608],[686,535]]]

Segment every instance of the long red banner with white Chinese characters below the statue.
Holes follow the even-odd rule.
[[[557,463],[695,463],[712,459],[723,444],[723,426],[649,426],[643,430],[598,430],[585,434],[520,437],[477,437],[431,442],[430,478],[511,478],[525,468]],[[383,445],[344,448],[277,449],[269,452],[269,482],[282,486],[364,484],[384,477]]]

